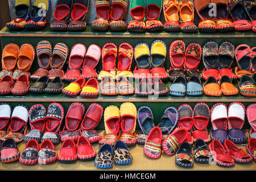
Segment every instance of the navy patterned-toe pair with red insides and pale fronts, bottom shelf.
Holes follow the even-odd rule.
[[[52,143],[60,143],[60,126],[64,118],[64,108],[59,103],[52,102],[46,111],[42,104],[35,104],[28,112],[31,130],[23,140],[28,142],[35,139],[38,142],[51,140]]]

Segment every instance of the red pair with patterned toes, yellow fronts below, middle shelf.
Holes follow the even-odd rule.
[[[122,43],[117,46],[114,43],[106,43],[102,47],[102,70],[98,75],[98,80],[103,77],[110,77],[113,80],[118,80],[119,77],[131,77],[131,63],[133,61],[134,50],[133,46],[128,43]],[[115,61],[118,59],[117,69]]]

